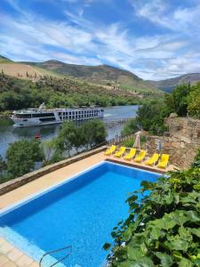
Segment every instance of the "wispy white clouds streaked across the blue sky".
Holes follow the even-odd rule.
[[[172,34],[134,36],[120,22],[94,25],[92,21],[85,20],[82,7],[76,12],[65,11],[67,22],[60,22],[44,20],[28,12],[25,15],[16,2],[9,1],[20,15],[15,19],[6,15],[2,17],[0,49],[12,60],[55,59],[86,65],[108,63],[130,70],[144,79],[174,77],[200,69],[199,37],[189,39],[180,35],[180,31],[176,32],[182,27],[188,34],[191,23],[195,24],[199,18],[198,7],[190,9],[191,13],[188,9],[169,13],[169,6],[164,0],[143,5],[132,0],[138,17],[172,29]],[[62,1],[74,3],[76,0]]]

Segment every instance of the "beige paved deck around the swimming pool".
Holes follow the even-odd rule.
[[[33,194],[41,190],[52,187],[55,184],[68,180],[71,176],[84,171],[91,166],[100,163],[103,160],[115,160],[115,162],[125,164],[128,166],[144,168],[144,164],[135,164],[132,161],[125,161],[123,158],[114,158],[113,156],[106,157],[104,152],[92,155],[91,157],[84,158],[80,161],[72,163],[69,166],[64,166],[59,170],[53,171],[50,174],[45,174],[40,178],[28,182],[20,188],[12,190],[2,196],[0,196],[0,209],[6,208],[15,204],[16,202],[28,198]],[[148,167],[149,171],[158,172],[156,167]],[[169,166],[165,171],[172,170],[172,166]],[[38,267],[39,264],[33,259],[22,253],[17,247],[13,247],[5,239],[0,238],[0,267]]]

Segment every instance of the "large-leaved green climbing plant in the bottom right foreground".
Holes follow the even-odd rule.
[[[199,169],[191,168],[157,182],[142,182],[126,200],[128,218],[111,233],[115,245],[108,255],[109,266],[199,266],[199,181]]]

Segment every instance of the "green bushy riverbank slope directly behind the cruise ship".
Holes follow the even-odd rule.
[[[36,83],[8,77],[0,73],[0,111],[38,107],[48,108],[100,105],[137,104],[132,93],[112,91],[76,79],[42,77]]]

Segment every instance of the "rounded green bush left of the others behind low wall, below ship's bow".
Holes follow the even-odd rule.
[[[6,153],[6,166],[12,177],[17,177],[34,170],[37,161],[44,158],[40,142],[20,140],[10,144]]]

